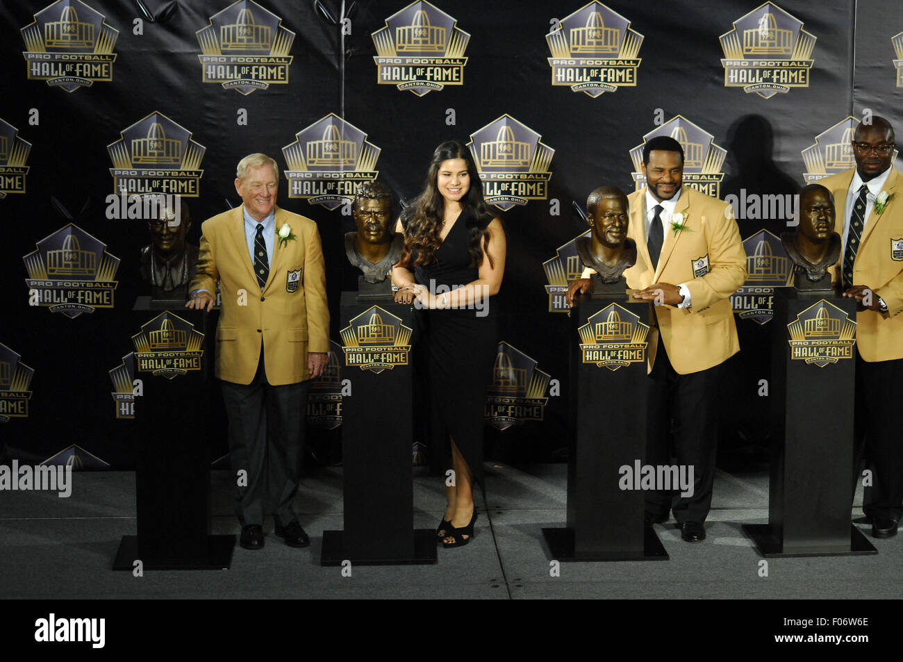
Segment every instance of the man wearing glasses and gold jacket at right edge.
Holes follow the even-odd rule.
[[[903,514],[903,175],[890,164],[894,146],[889,121],[872,117],[853,135],[856,167],[819,182],[843,219],[835,283],[859,302],[854,448],[857,466],[864,450],[874,471],[863,511],[877,538],[896,536]]]

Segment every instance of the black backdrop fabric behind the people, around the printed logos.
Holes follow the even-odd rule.
[[[293,62],[288,84],[248,96],[201,82],[195,33],[209,24],[211,15],[230,5],[228,0],[143,3],[160,20],[152,23],[145,18],[140,35],[134,33],[134,22],[143,14],[132,0],[87,3],[119,31],[113,80],[71,93],[26,75],[20,31],[51,3],[28,0],[0,6],[5,64],[0,118],[32,145],[26,192],[0,200],[4,283],[0,342],[34,368],[29,417],[0,424],[0,434],[9,452],[32,462],[78,444],[113,468],[131,466],[134,428],[131,422],[114,418],[107,373],[133,350],[130,338],[138,330],[129,311],[137,293],[138,251],[148,238],[142,221],[106,218],[105,198],[114,191],[107,145],[149,113],[159,111],[171,118],[206,147],[200,195],[188,200],[194,219],[192,243],[200,236],[201,219],[225,210],[227,200],[239,202],[232,183],[239,158],[262,151],[284,169],[282,147],[330,113],[357,126],[381,149],[376,170],[402,199],[420,190],[433,147],[443,139],[467,140],[505,114],[540,134],[542,142],[554,149],[549,200],[531,200],[500,213],[507,227],[508,258],[498,305],[503,313],[502,339],[560,380],[562,390],[560,396],[549,398],[544,421],[490,430],[489,455],[517,460],[554,456],[564,445],[567,426],[570,340],[564,315],[548,311],[543,262],[585,229],[571,210],[573,200],[582,204],[601,183],[633,189],[629,150],[656,127],[656,109],[666,120],[685,117],[727,150],[721,168],[723,197],[741,189],[796,191],[805,172],[801,151],[814,144],[815,135],[844,117],[861,117],[866,108],[896,122],[901,98],[891,38],[903,32],[903,5],[877,0],[781,2],[779,8],[805,23],[803,29],[817,41],[808,86],[772,98],[724,85],[725,55],[719,36],[755,10],[759,6],[755,0],[610,0],[607,6],[644,36],[642,63],[636,87],[597,98],[550,84],[545,34],[553,18],[575,12],[585,4],[581,0],[471,0],[455,5],[437,0],[434,5],[470,33],[464,53],[468,61],[463,85],[446,86],[424,97],[377,84],[371,33],[405,7],[405,0],[358,0],[349,14],[350,33],[344,36],[341,25],[325,20],[316,3],[261,2],[295,33]],[[75,0],[73,4],[77,5]],[[320,5],[340,17],[338,0],[321,0]],[[237,124],[240,109],[247,111],[246,126]],[[447,124],[449,109],[454,111],[453,126]],[[340,209],[289,199],[284,180],[280,189],[281,206],[315,219],[320,227],[332,305],[331,335],[339,340],[340,281],[348,268],[341,237],[353,224]],[[23,256],[70,222],[51,198],[60,200],[80,228],[121,259],[115,309],[98,309],[73,320],[28,305]],[[558,200],[559,215],[550,213],[551,200]],[[784,219],[741,220],[740,233],[743,238],[759,228],[777,233],[784,223]],[[744,439],[768,441],[768,405],[757,391],[759,379],[768,377],[764,367],[769,365],[769,328],[749,320],[738,326],[743,349],[731,359],[722,392],[722,443],[728,447]],[[211,433],[221,440],[221,413],[209,416]],[[327,439],[335,442],[337,434]],[[225,449],[224,443],[216,443]]]

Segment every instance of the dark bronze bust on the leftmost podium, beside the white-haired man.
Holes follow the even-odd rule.
[[[147,220],[151,243],[141,249],[141,277],[150,284],[152,299],[185,301],[188,284],[198,270],[199,252],[185,240],[191,229],[188,205],[181,201],[180,218],[164,202],[151,209],[155,210],[154,218]]]

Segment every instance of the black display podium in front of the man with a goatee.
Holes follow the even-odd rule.
[[[570,313],[576,431],[567,462],[567,527],[543,529],[558,561],[668,558],[655,530],[644,526],[646,493],[619,486],[619,468],[633,469],[646,457],[647,337],[638,323],[647,327],[649,305],[623,294],[578,296]]]

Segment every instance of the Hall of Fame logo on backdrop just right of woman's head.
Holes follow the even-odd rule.
[[[467,146],[489,204],[507,211],[548,197],[549,164],[555,151],[540,142],[542,137],[507,114],[470,134]]]

